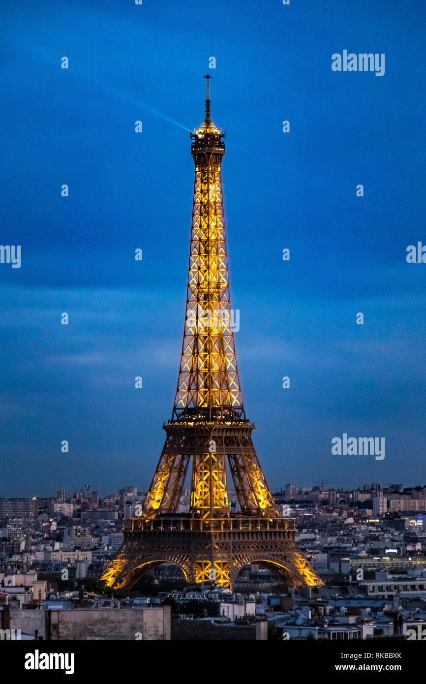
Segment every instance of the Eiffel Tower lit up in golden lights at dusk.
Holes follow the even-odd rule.
[[[124,520],[124,541],[103,573],[107,586],[131,587],[153,567],[176,564],[188,583],[232,588],[250,563],[291,586],[321,580],[295,542],[294,518],[279,516],[245,417],[230,308],[222,157],[225,134],[210,116],[191,133],[195,162],[187,306],[172,419],[139,517]],[[188,514],[178,514],[191,464]],[[241,512],[228,501],[227,469]]]

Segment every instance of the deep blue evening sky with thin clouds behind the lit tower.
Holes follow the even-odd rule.
[[[3,0],[1,14],[0,242],[22,265],[0,264],[0,496],[148,487],[176,390],[206,73],[271,488],[426,484],[426,264],[405,260],[426,244],[423,0]],[[343,49],[384,53],[384,76],[334,72]],[[343,433],[384,437],[384,460],[333,456]]]

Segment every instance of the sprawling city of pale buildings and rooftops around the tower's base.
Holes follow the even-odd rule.
[[[285,484],[275,492],[276,508],[295,518],[296,542],[322,586],[284,587],[254,562],[230,592],[213,579],[189,586],[178,566],[161,564],[114,598],[100,578],[122,545],[123,518],[125,527],[146,493],[131,486],[101,496],[85,486],[52,497],[0,499],[0,607],[10,611],[10,629],[20,630],[21,639],[34,639],[36,629],[38,638],[61,638],[49,634],[44,611],[79,609],[73,610],[73,638],[82,638],[85,610],[114,614],[120,605],[133,615],[156,607],[148,639],[247,640],[263,624],[275,640],[410,640],[423,634],[426,486],[371,483],[348,491],[320,482],[309,489]],[[241,514],[235,492],[229,503],[231,516]],[[176,523],[189,510],[185,490]],[[135,638],[126,629],[131,624],[119,633],[104,617],[103,627],[94,622],[89,635]]]

